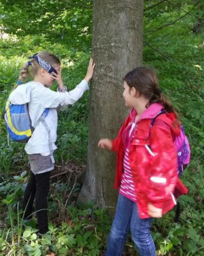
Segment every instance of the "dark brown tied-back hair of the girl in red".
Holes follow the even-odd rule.
[[[130,88],[134,87],[140,95],[143,95],[149,100],[146,107],[152,103],[161,103],[168,113],[175,113],[176,119],[179,120],[179,115],[171,101],[160,90],[157,76],[152,69],[146,67],[135,68],[128,72],[123,80]]]

